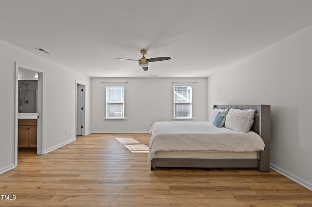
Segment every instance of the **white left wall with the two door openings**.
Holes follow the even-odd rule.
[[[0,57],[0,173],[14,164],[15,62],[44,71],[44,150],[75,138],[76,80],[86,83],[86,132],[91,131],[89,77],[1,40]]]

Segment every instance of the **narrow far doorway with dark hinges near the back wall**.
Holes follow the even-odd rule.
[[[85,84],[76,81],[76,137],[85,136]]]

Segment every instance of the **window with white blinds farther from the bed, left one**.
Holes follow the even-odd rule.
[[[106,119],[125,118],[125,86],[106,86]]]

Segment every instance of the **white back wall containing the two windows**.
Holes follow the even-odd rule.
[[[193,85],[194,121],[207,121],[207,78],[92,78],[91,82],[93,132],[148,132],[155,121],[172,121],[172,82],[197,82]],[[126,120],[104,120],[102,82],[128,82]]]

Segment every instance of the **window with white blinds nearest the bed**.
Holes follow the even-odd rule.
[[[174,119],[192,119],[192,86],[174,85]]]

